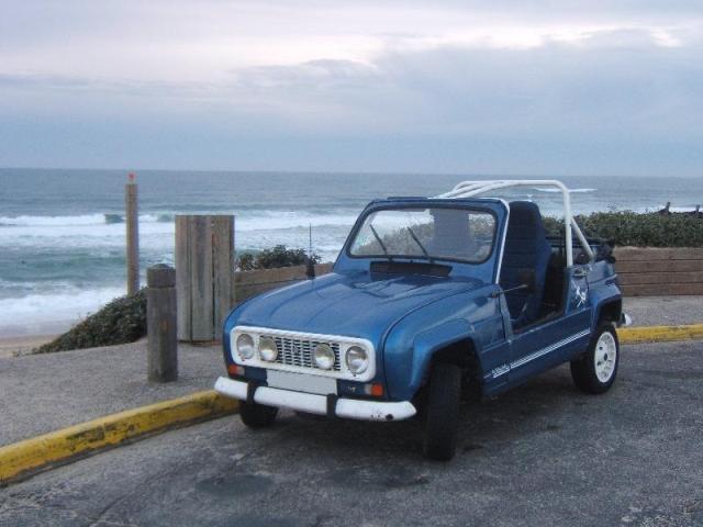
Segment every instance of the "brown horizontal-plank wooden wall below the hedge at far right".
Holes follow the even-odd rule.
[[[703,294],[703,248],[620,247],[614,255],[625,296]]]

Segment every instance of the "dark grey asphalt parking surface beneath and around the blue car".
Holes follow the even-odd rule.
[[[703,343],[624,347],[605,395],[562,367],[467,404],[448,463],[421,431],[219,419],[0,489],[0,525],[703,526]]]

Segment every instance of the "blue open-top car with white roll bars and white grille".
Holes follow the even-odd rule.
[[[562,194],[562,235],[512,187]],[[576,238],[576,239],[572,239]],[[436,198],[371,202],[333,272],[256,296],[224,325],[242,421],[279,407],[350,419],[406,419],[423,408],[425,452],[454,456],[462,396],[492,395],[570,361],[577,386],[605,392],[624,319],[613,257],[587,239],[559,181],[466,181]]]

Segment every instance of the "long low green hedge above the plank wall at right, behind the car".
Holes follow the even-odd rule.
[[[688,214],[639,214],[632,211],[594,212],[576,217],[589,237],[635,247],[703,247],[703,220]],[[545,218],[551,235],[563,232],[563,222]]]

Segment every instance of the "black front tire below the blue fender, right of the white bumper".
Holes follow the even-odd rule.
[[[438,461],[454,458],[457,446],[457,419],[461,399],[461,369],[437,363],[429,378],[425,421],[425,456]]]

